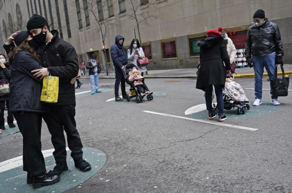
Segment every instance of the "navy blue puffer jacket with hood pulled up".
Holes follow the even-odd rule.
[[[119,39],[123,39],[123,44],[119,44]],[[115,43],[110,47],[110,54],[112,56],[112,62],[116,68],[121,69],[122,66],[128,64],[128,56],[124,49],[125,38],[121,35],[116,36]]]

